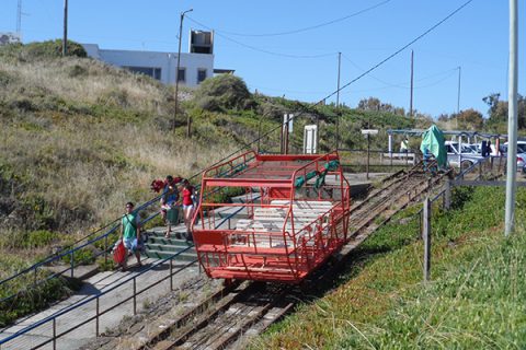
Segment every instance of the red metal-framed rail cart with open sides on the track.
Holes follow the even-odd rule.
[[[350,207],[338,152],[247,152],[203,173],[199,262],[211,278],[298,283],[346,242]]]

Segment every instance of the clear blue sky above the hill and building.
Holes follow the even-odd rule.
[[[0,32],[15,31],[18,2],[1,0]],[[467,2],[69,0],[68,38],[102,49],[176,52],[180,13],[193,9],[184,18],[182,51],[191,28],[214,30],[215,68],[233,69],[251,92],[335,102],[341,52],[340,103],[355,107],[378,97],[409,110],[412,50],[414,109],[437,117],[456,113],[459,102],[460,110],[487,116],[484,96],[500,93],[507,101],[508,1]],[[524,95],[525,8],[518,2]],[[22,0],[22,13],[23,43],[62,36],[64,0]]]

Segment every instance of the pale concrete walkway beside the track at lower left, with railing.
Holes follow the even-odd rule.
[[[146,299],[140,296],[147,291],[156,287],[157,294],[150,293],[150,296],[173,291],[173,277],[197,261],[174,266],[173,259],[191,247],[158,260],[116,285],[103,292],[96,291],[94,295],[1,339],[0,349],[62,349],[71,343],[79,345],[79,338],[89,338],[87,335],[98,337],[112,318],[122,318],[123,308],[136,315],[139,308],[145,307]],[[117,308],[121,310],[117,312]]]

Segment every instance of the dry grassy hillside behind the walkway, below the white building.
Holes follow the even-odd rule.
[[[252,148],[278,151],[282,112],[299,108],[297,102],[265,97],[263,107],[211,113],[185,97],[174,118],[172,86],[89,58],[54,58],[55,44],[45,55],[38,54],[45,46],[0,48],[0,256],[23,257],[24,266],[112,222],[125,202],[153,197],[155,178],[198,174],[258,136],[262,140]],[[305,112],[295,120],[290,152],[301,152],[304,126],[317,121],[320,151],[333,149],[334,108],[299,109]],[[347,108],[342,144],[362,147],[356,135],[371,120],[414,126],[403,116]],[[93,262],[93,252],[80,252],[76,260]],[[4,273],[20,267],[11,259],[0,262]],[[57,290],[67,293],[62,285]]]

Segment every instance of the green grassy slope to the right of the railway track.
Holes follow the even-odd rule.
[[[526,232],[519,225],[516,236],[503,237],[503,192],[461,189],[456,209],[435,208],[431,283],[422,283],[419,223],[401,213],[353,253],[334,290],[306,298],[251,347],[524,348]],[[524,218],[525,191],[517,202]]]

